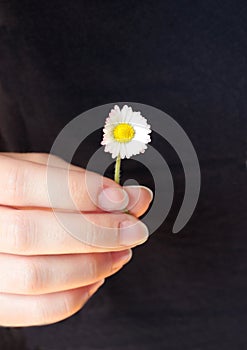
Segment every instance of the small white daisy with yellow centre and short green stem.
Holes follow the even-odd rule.
[[[115,181],[119,182],[121,159],[145,152],[147,143],[151,141],[150,125],[140,112],[134,112],[127,105],[122,109],[116,105],[105,121],[103,132],[101,144],[105,146],[105,152],[117,158]]]

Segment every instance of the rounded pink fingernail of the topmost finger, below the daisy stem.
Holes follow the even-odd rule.
[[[129,203],[129,197],[122,188],[108,187],[100,192],[98,206],[107,211],[123,210]]]

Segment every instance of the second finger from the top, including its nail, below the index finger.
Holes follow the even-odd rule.
[[[147,238],[147,227],[124,213],[78,214],[0,208],[0,251],[3,253],[55,255],[123,250]]]

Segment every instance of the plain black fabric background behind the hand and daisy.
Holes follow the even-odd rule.
[[[177,120],[202,171],[197,209],[174,236],[184,178],[168,150],[177,199],[164,225],[75,316],[19,330],[26,346],[246,348],[246,2],[19,1],[0,8],[1,150],[49,152],[81,112],[136,101]],[[85,157],[82,148],[78,164]]]

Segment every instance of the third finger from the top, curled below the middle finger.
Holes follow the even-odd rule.
[[[131,250],[59,256],[0,254],[0,293],[40,295],[93,284],[120,270]]]

